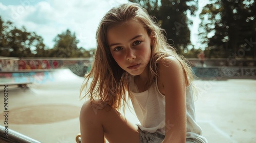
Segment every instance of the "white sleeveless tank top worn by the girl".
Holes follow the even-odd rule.
[[[172,125],[165,126],[165,96],[159,91],[157,80],[144,92],[139,92],[134,83],[134,76],[130,76],[129,81],[132,104],[141,124],[138,125],[139,128],[142,131],[159,132],[165,135],[165,127],[170,128]],[[196,123],[192,89],[192,84],[186,87],[186,138],[197,138],[207,142],[202,136],[202,129]]]

